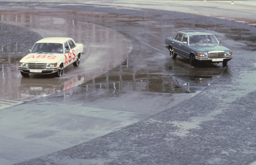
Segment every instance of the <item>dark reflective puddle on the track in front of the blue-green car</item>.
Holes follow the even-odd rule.
[[[93,89],[114,89],[114,91],[192,93],[201,91],[211,85],[224,70],[223,67],[217,67],[216,65],[212,65],[212,67],[208,65],[207,68],[189,66],[184,68],[183,65],[170,67],[170,63],[166,64],[165,73],[129,73],[128,68],[123,68],[122,71],[118,71],[117,68],[83,83],[81,87],[86,88],[88,91]]]

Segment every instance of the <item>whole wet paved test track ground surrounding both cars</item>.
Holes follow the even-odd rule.
[[[61,2],[0,2],[6,58],[1,61],[2,164],[255,161],[256,33],[249,18],[239,23],[255,16],[254,7]],[[170,59],[164,38],[183,29],[214,33],[235,58],[228,67],[190,67],[186,59]],[[37,39],[62,35],[85,45],[79,68],[68,68],[61,79],[22,78],[15,62],[26,49]],[[15,46],[4,45],[15,39]]]

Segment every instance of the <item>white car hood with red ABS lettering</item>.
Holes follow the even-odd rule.
[[[49,62],[55,63],[59,61],[59,59],[63,56],[63,54],[43,54],[43,53],[30,53],[23,57],[20,62],[30,62],[30,61],[40,61],[40,62]]]

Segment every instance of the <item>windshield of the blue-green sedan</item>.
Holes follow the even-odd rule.
[[[214,35],[190,35],[189,45],[193,44],[219,44]]]

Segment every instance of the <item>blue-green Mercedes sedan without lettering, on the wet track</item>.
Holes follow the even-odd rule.
[[[198,61],[207,63],[222,62],[226,66],[233,58],[232,51],[208,32],[187,30],[177,32],[173,38],[165,38],[164,46],[169,49],[170,56],[176,58],[180,55],[190,60],[192,66]]]

